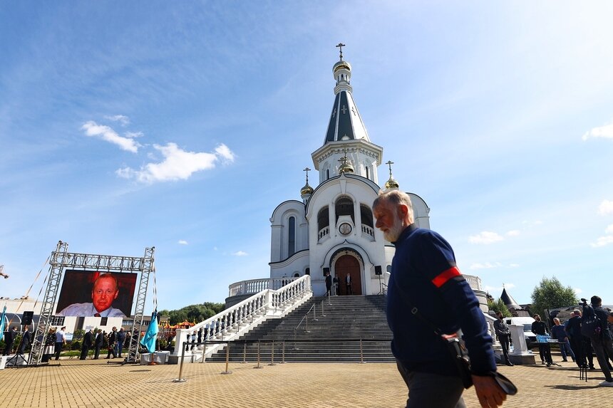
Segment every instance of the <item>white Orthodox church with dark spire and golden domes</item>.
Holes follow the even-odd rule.
[[[351,87],[351,64],[340,58],[332,67],[334,103],[323,144],[311,153],[319,180],[311,187],[309,167],[302,201],[289,199],[270,218],[270,278],[311,276],[315,296],[326,293],[325,276],[339,279],[339,295],[383,293],[391,271],[393,245],[375,228],[372,203],[383,189],[398,189],[388,161],[389,178],[379,184],[383,147],[371,141]],[[387,170],[387,169],[386,169]],[[430,228],[426,202],[408,192],[416,224]]]

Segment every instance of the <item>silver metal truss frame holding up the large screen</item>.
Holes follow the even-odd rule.
[[[138,361],[138,342],[140,341],[140,332],[143,330],[143,311],[145,310],[145,298],[147,297],[149,275],[151,271],[153,271],[154,252],[155,247],[146,248],[143,258],[69,253],[68,244],[59,241],[56,250],[51,253],[48,284],[41,305],[40,320],[38,320],[34,339],[32,340],[32,350],[30,352],[28,365],[41,364],[43,346],[45,344],[46,334],[48,333],[53,309],[56,305],[58,288],[64,268],[85,268],[108,272],[140,272],[140,285],[138,286],[134,323],[132,326],[133,336],[130,338],[130,348],[128,351],[128,358],[126,359],[127,362]]]

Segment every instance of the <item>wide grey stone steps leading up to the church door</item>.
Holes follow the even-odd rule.
[[[284,318],[266,320],[230,343],[230,361],[257,361],[259,341],[262,364],[271,362],[273,350],[274,362],[281,362],[283,354],[285,362],[395,362],[385,301],[382,295],[311,298]],[[225,359],[224,348],[206,361]]]

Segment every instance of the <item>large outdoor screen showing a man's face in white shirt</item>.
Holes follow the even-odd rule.
[[[137,275],[67,269],[64,271],[56,316],[129,316]]]

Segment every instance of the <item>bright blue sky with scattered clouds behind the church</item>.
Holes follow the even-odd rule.
[[[269,276],[269,217],[324,141],[342,41],[371,141],[464,273],[520,303],[552,276],[613,303],[611,15],[609,1],[5,1],[0,294],[24,295],[58,240],[155,246],[162,309]]]

